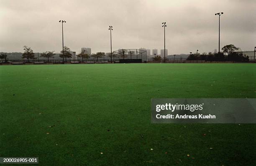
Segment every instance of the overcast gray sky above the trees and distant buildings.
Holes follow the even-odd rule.
[[[164,47],[168,54],[218,49],[234,44],[242,50],[256,46],[256,0],[0,0],[0,52],[22,52],[30,46],[34,52],[81,47],[110,52],[113,26],[113,50]]]

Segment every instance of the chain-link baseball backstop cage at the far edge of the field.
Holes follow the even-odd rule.
[[[119,63],[142,63],[147,62],[147,51],[140,49],[119,49],[113,51],[113,59]]]

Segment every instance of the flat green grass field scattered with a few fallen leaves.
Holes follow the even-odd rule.
[[[255,83],[255,64],[0,66],[0,157],[255,165],[255,124],[151,124],[151,98],[256,98]]]

